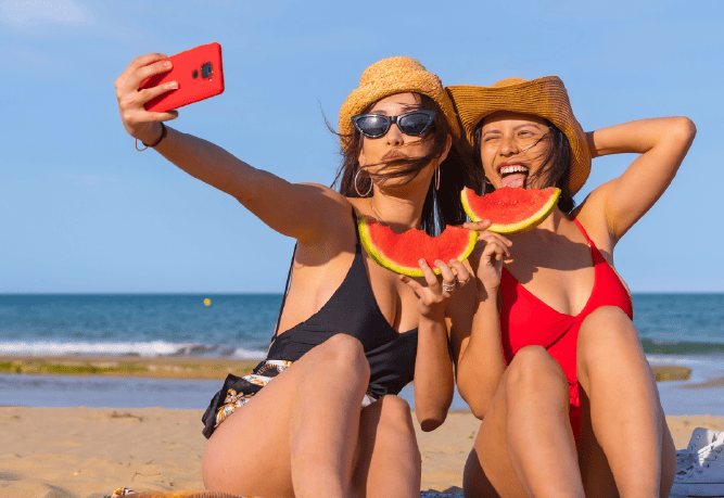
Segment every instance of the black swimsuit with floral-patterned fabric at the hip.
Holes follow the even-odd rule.
[[[357,227],[354,210],[352,216]],[[399,333],[388,323],[374,299],[356,229],[355,234],[357,243],[352,266],[342,284],[321,309],[282,334],[277,335],[275,332],[267,359],[257,365],[251,375],[227,376],[202,418],[206,437],[211,437],[219,423],[261,391],[270,379],[334,334],[348,334],[361,343],[370,366],[368,398],[378,399],[385,394],[398,394],[412,381],[417,329]],[[293,260],[292,257],[292,264]],[[290,267],[284,298],[279,310],[280,318],[291,273]]]

